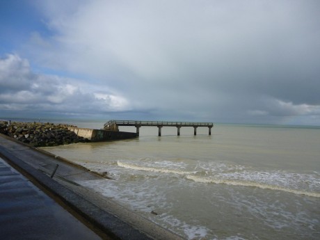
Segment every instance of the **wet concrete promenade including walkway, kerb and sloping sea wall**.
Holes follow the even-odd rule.
[[[102,175],[2,134],[0,157],[1,238],[181,239],[79,184]]]

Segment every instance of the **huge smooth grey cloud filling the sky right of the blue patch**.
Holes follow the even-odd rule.
[[[37,7],[52,35],[34,32],[29,58],[125,96],[122,109],[161,119],[277,123],[296,116],[289,123],[320,124],[319,1]]]

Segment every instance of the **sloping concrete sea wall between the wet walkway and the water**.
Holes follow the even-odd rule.
[[[0,156],[10,162],[10,165],[35,179],[35,182],[77,211],[84,218],[83,221],[89,221],[106,234],[111,234],[116,239],[182,239],[118,202],[77,183],[90,179],[108,181],[105,176],[3,134],[0,134],[0,143]],[[51,179],[49,174],[56,163],[59,167]]]

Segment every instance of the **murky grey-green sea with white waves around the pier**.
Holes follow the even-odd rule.
[[[106,172],[112,179],[79,183],[185,239],[320,239],[320,127],[211,132],[141,127],[135,139],[42,149]]]

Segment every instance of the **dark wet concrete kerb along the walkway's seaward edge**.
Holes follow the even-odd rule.
[[[10,140],[13,139],[10,138]],[[136,230],[134,227],[131,227],[127,223],[121,221],[116,216],[99,209],[99,207],[93,205],[92,202],[89,202],[81,195],[77,195],[77,193],[67,189],[54,179],[51,179],[51,177],[36,170],[29,164],[25,163],[22,159],[13,156],[13,154],[6,150],[5,147],[0,146],[0,155],[6,159],[10,165],[17,168],[17,170],[24,173],[24,175],[28,176],[29,178],[31,177],[34,179],[35,182],[47,189],[47,191],[53,195],[56,195],[57,198],[63,201],[71,209],[76,211],[77,214],[82,216],[86,221],[95,225],[99,230],[102,230],[102,232],[106,233],[113,239],[151,239],[139,230]],[[54,156],[54,154],[49,155]],[[69,161],[67,162],[70,163]]]

